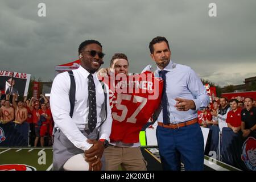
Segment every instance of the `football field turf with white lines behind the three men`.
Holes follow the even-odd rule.
[[[158,148],[156,146],[144,146],[141,147],[142,154],[147,160],[147,169],[149,171],[162,170],[160,164],[160,157]],[[212,162],[212,163],[211,163]],[[41,147],[5,147],[0,148],[0,170],[6,170],[2,165],[6,164],[22,164],[27,169],[36,171],[49,171],[52,169],[52,148]],[[15,165],[13,165],[15,166]],[[10,169],[10,168],[9,168]],[[181,170],[184,170],[183,164],[181,164]],[[239,169],[229,166],[217,160],[210,160],[205,156],[204,159],[205,171],[237,171]]]

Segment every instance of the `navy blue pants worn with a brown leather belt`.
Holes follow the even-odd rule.
[[[198,123],[179,129],[158,125],[156,138],[164,170],[179,171],[180,162],[185,170],[204,169],[204,138]]]

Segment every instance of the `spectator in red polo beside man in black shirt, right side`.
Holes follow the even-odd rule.
[[[228,123],[228,127],[234,131],[234,133],[238,133],[241,130],[241,108],[238,108],[238,100],[236,98],[230,100],[230,107],[232,110],[228,112],[228,116],[226,117],[226,123]]]

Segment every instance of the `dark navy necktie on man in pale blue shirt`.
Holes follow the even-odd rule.
[[[166,70],[159,72],[159,77],[163,78],[163,93],[162,93],[162,107],[163,107],[163,123],[170,123],[170,116],[168,114],[168,98],[166,94]]]

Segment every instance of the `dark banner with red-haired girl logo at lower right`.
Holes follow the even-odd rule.
[[[256,139],[243,138],[242,133],[234,133],[224,127],[221,134],[221,160],[242,170],[256,171]]]

